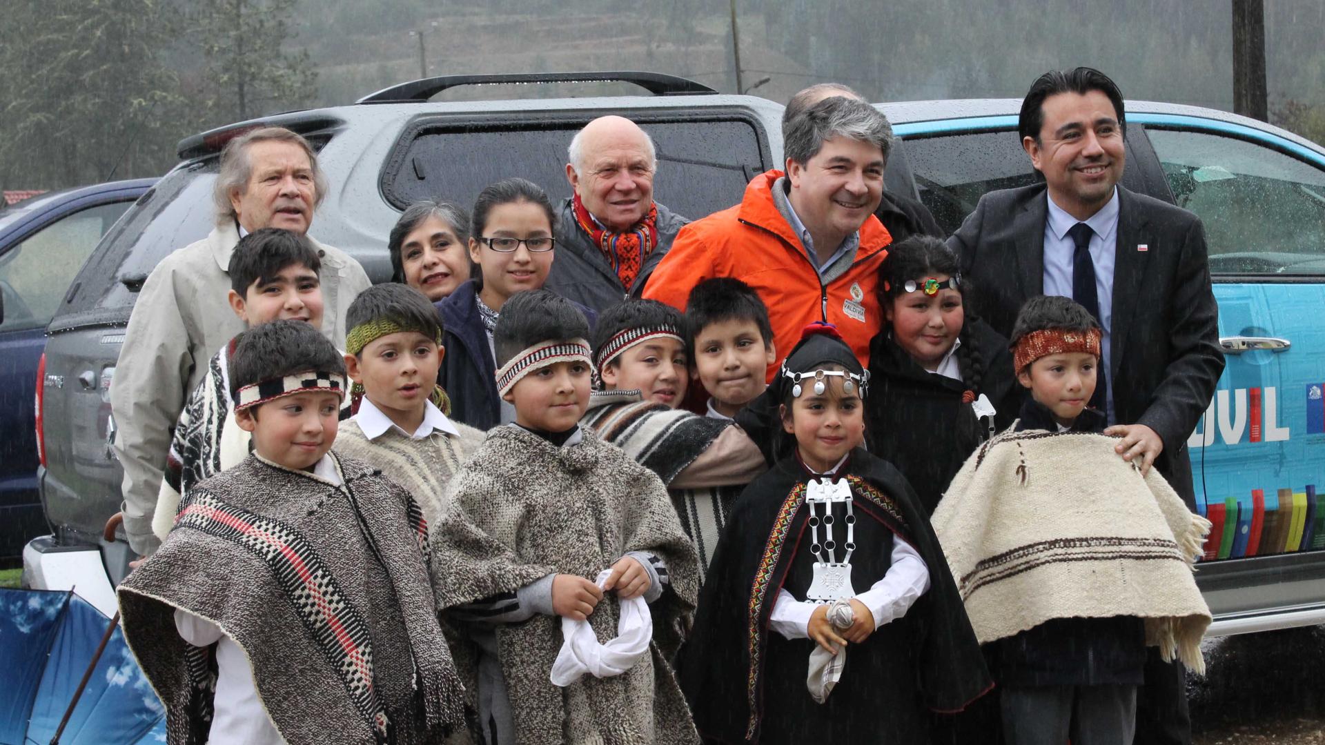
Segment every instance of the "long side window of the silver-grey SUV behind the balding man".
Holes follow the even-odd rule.
[[[468,208],[485,186],[522,176],[546,188],[554,201],[568,198],[566,147],[591,118],[424,119],[405,130],[392,152],[382,192],[398,209],[420,199]],[[631,119],[649,133],[657,150],[655,199],[692,220],[730,207],[751,178],[771,167],[759,125],[738,114],[697,119],[690,113],[682,119],[636,111]]]

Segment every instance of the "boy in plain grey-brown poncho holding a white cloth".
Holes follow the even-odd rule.
[[[433,534],[437,603],[458,630],[485,742],[697,742],[666,663],[694,607],[697,557],[659,477],[578,424],[587,333],[545,290],[502,308],[497,387],[517,418],[450,481],[452,513]],[[586,619],[604,664],[564,675],[566,632]]]

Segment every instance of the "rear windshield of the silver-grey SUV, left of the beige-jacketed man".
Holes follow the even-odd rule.
[[[212,158],[171,171],[125,213],[93,251],[69,288],[61,313],[127,309],[134,293],[162,258],[212,231],[212,182],[219,160]]]

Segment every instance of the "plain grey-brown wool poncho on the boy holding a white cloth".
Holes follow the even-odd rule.
[[[689,627],[698,558],[659,477],[580,430],[582,440],[564,447],[514,424],[488,432],[450,480],[450,513],[432,534],[437,607],[515,593],[553,573],[594,578],[629,551],[660,557],[670,590],[649,606],[652,654],[629,671],[553,685],[563,639],[562,619],[551,615],[500,627],[498,659],[518,745],[697,742],[668,660]],[[616,636],[619,615],[608,593],[588,616],[599,642]],[[457,667],[474,693],[476,650],[462,628],[456,642]]]

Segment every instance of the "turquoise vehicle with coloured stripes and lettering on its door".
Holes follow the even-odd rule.
[[[888,188],[949,233],[992,190],[1034,183],[1020,99],[882,103]],[[1122,184],[1206,227],[1227,367],[1187,440],[1214,529],[1196,581],[1210,635],[1325,622],[1325,148],[1264,122],[1126,102]],[[1317,493],[1320,492],[1320,493]]]

